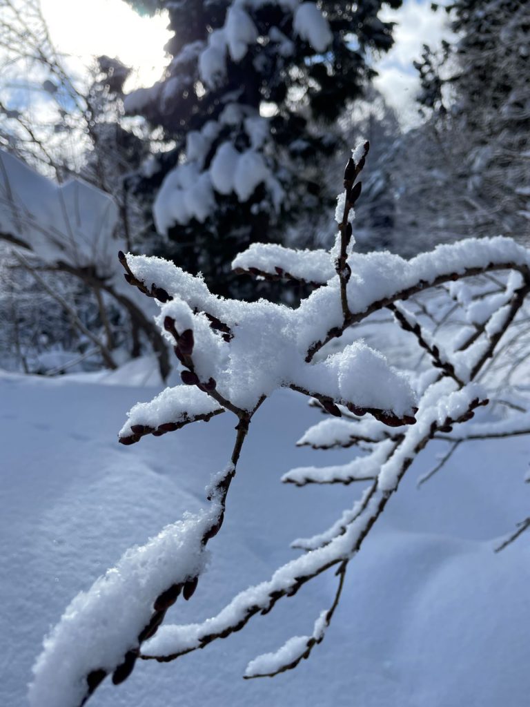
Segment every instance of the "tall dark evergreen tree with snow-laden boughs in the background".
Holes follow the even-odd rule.
[[[175,33],[164,78],[125,102],[173,145],[139,191],[158,190],[155,225],[178,264],[244,294],[230,257],[322,209],[319,159],[336,149],[333,123],[373,76],[369,54],[391,47],[393,24],[378,16],[383,0],[129,2],[165,8]]]

